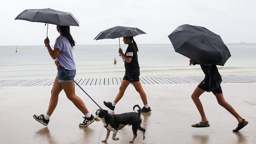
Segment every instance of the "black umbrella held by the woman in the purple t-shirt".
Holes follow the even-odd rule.
[[[56,24],[59,26],[79,26],[78,20],[68,12],[56,11],[54,9],[26,9],[20,13],[15,20],[28,20],[30,22],[43,22],[47,24]]]

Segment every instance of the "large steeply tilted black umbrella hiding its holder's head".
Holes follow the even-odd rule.
[[[231,56],[221,37],[204,27],[185,24],[168,37],[175,52],[198,64],[224,66]]]

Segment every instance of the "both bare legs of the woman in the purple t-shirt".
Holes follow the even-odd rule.
[[[57,103],[58,103],[59,92],[61,92],[62,89],[64,89],[67,98],[69,98],[69,100],[71,102],[73,102],[74,105],[83,114],[89,113],[89,111],[86,108],[83,101],[78,96],[76,96],[74,82],[59,83],[58,79],[55,78],[54,85],[53,85],[52,91],[51,91],[50,103],[49,103],[48,110],[47,110],[46,114],[48,114],[49,116],[52,115],[52,113],[53,113],[53,111],[56,108]]]

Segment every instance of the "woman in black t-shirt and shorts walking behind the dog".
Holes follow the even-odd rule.
[[[141,82],[139,81],[139,62],[138,62],[138,48],[137,44],[134,41],[133,37],[123,37],[124,44],[128,44],[125,54],[122,52],[122,49],[119,48],[119,54],[125,60],[125,74],[122,79],[121,86],[119,87],[119,92],[115,97],[113,102],[103,102],[106,107],[114,111],[116,103],[121,100],[122,96],[128,85],[132,83],[134,85],[137,92],[141,96],[141,100],[143,101],[144,107],[141,109],[141,112],[150,112],[151,109],[148,106],[147,95],[141,86]]]

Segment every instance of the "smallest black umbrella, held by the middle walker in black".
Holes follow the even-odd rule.
[[[145,34],[144,31],[138,28],[130,28],[125,26],[115,26],[109,28],[108,30],[101,31],[94,39],[115,39],[119,38],[119,48],[120,48],[120,37],[131,37],[140,34]]]

